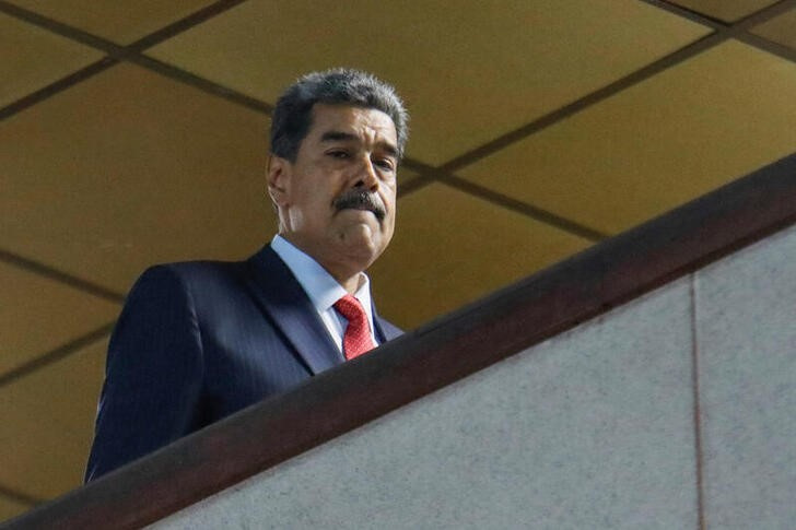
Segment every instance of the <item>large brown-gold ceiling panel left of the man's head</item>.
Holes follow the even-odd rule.
[[[119,292],[154,262],[247,257],[276,226],[267,126],[114,67],[0,123],[0,246]]]

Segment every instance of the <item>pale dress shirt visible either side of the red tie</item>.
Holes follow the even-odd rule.
[[[348,291],[326,269],[320,267],[317,261],[294,247],[279,234],[273,236],[271,248],[284,261],[284,264],[288,266],[288,269],[293,273],[302,288],[304,288],[304,292],[307,293],[309,302],[315,307],[315,310],[318,311],[318,316],[320,316],[320,320],[323,320],[324,326],[329,331],[329,335],[342,352],[342,337],[346,332],[348,320],[335,309],[333,305],[347,295]],[[373,343],[378,344],[376,335],[373,332],[371,282],[364,272],[360,272],[359,286],[356,287],[354,297],[360,301],[362,308],[365,310],[365,315],[367,315]]]

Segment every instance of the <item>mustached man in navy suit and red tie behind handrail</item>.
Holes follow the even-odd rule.
[[[271,122],[279,234],[244,262],[149,269],[108,348],[86,481],[283,392],[400,331],[371,303],[407,113],[370,74],[305,75]]]

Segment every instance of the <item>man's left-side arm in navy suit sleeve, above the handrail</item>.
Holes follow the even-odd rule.
[[[202,378],[190,293],[169,266],[149,269],[130,291],[110,338],[85,481],[194,431]]]

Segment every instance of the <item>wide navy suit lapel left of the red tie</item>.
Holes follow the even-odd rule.
[[[301,284],[269,245],[246,261],[245,280],[313,374],[343,362]]]

